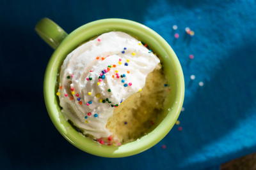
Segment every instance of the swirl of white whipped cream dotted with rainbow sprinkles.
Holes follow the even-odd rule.
[[[107,32],[69,53],[61,66],[58,96],[63,115],[84,134],[111,135],[113,110],[145,85],[159,59],[124,32]]]

